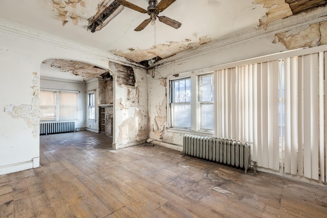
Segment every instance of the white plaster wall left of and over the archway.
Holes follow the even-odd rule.
[[[74,47],[55,36],[44,40],[49,36],[35,30],[29,35],[28,28],[10,22],[1,21],[0,26],[0,91],[3,93],[0,95],[0,175],[3,175],[39,166],[38,90],[42,61],[74,59],[106,68],[108,59],[90,55],[89,48]],[[16,28],[21,31],[19,34]]]

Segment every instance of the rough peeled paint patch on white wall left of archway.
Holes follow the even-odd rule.
[[[28,127],[32,128],[32,136],[39,137],[39,96],[40,96],[40,78],[37,72],[33,72],[33,98],[31,105],[6,105],[5,111],[11,115],[12,118],[22,118]]]

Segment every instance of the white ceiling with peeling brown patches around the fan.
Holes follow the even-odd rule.
[[[325,0],[176,0],[159,16],[181,22],[179,29],[157,20],[155,26],[148,25],[136,32],[134,29],[149,15],[122,6],[123,10],[117,12],[101,30],[94,33],[87,30],[88,19],[95,16],[103,5],[109,6],[113,2],[2,0],[0,18],[142,63],[196,49],[251,28],[266,28],[268,22],[292,15],[291,4],[297,8],[298,5],[303,8],[303,2],[307,5],[316,2],[316,6],[325,4]],[[148,0],[129,2],[144,9],[148,6]]]

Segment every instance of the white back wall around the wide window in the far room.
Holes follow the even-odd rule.
[[[41,89],[52,89],[61,91],[78,91],[77,98],[77,120],[75,122],[75,128],[77,131],[85,129],[86,118],[86,84],[82,81],[67,81],[56,80],[54,78],[42,78],[42,71],[45,70],[41,67]]]

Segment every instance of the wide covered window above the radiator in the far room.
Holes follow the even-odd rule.
[[[75,92],[40,91],[40,120],[77,120],[77,97]]]

